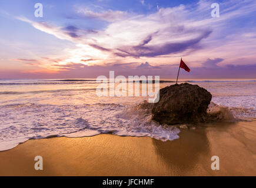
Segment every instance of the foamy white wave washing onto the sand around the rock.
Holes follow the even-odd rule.
[[[0,106],[0,150],[7,150],[28,139],[46,137],[85,137],[101,133],[118,136],[148,136],[166,141],[178,139],[178,125],[169,126],[152,120],[154,103],[134,105],[94,103],[49,105],[16,103]],[[251,111],[252,110],[252,111]],[[228,108],[211,102],[207,122],[243,120],[253,109]]]

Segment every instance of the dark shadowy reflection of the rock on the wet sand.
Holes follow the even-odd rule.
[[[196,170],[200,155],[208,155],[210,144],[204,128],[197,130],[183,130],[182,139],[161,142],[152,139],[155,151],[167,164],[169,172],[182,175],[185,172]]]

